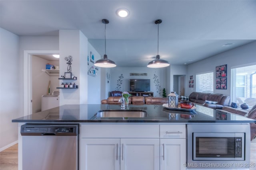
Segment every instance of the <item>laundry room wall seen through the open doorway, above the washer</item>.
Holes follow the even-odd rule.
[[[46,68],[46,64],[59,65],[58,61],[48,61],[40,57],[32,56],[32,113],[41,111],[42,95],[48,95],[48,84],[50,81],[50,94],[56,87],[59,87],[59,76],[49,76],[42,69]]]

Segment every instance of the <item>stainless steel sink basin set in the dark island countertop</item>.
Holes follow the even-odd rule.
[[[95,117],[146,117],[147,112],[144,110],[101,110]]]

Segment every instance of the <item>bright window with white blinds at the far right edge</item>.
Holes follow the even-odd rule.
[[[231,76],[231,102],[252,108],[256,104],[256,65],[232,68]]]

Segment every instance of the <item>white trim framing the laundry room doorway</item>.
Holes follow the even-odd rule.
[[[59,54],[59,50],[24,50],[23,53],[23,115],[32,114],[32,55]]]

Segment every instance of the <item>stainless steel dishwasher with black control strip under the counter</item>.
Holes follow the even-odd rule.
[[[22,170],[78,170],[77,124],[24,124]]]

